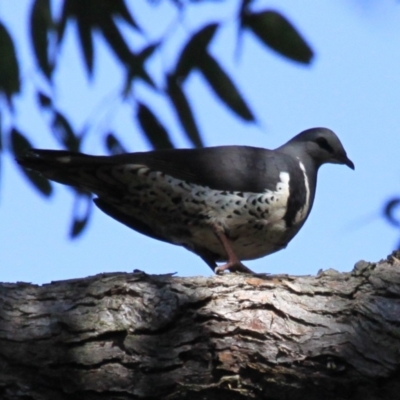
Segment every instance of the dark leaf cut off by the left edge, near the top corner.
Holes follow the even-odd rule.
[[[0,91],[7,100],[20,90],[19,67],[15,55],[14,43],[7,29],[0,22]]]

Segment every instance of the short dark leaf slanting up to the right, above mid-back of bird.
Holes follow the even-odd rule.
[[[199,60],[203,57],[211,39],[218,28],[218,24],[210,24],[195,33],[183,48],[175,69],[175,76],[182,83],[193,68],[196,68]]]

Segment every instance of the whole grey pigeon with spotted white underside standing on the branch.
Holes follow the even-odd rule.
[[[89,156],[32,149],[18,162],[94,193],[106,214],[185,247],[215,272],[251,272],[243,260],[286,247],[310,213],[322,164],[354,169],[326,128],[303,131],[275,150],[220,146]]]

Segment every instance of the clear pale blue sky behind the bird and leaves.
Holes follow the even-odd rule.
[[[57,3],[57,2],[55,2]],[[214,2],[210,2],[214,3]],[[360,259],[384,258],[398,242],[399,232],[381,218],[385,200],[400,194],[400,5],[396,1],[276,0],[255,2],[255,9],[282,12],[313,47],[310,67],[290,62],[266,50],[250,33],[235,42],[235,4],[192,7],[184,29],[157,55],[151,68],[156,79],[174,64],[173,55],[185,32],[221,15],[226,21],[211,51],[234,78],[255,113],[258,124],[243,123],[210,92],[197,74],[186,84],[191,104],[209,146],[241,144],[275,148],[303,129],[325,126],[344,144],[355,171],[322,167],[313,210],[289,246],[268,257],[247,262],[257,272],[315,274],[319,269],[349,271]],[[35,73],[26,21],[28,0],[0,0],[2,20],[16,39],[27,82],[17,99],[11,122],[38,148],[58,148],[46,116],[37,112],[35,85],[46,83]],[[138,22],[155,39],[167,29],[174,11],[163,3],[157,13],[146,1],[135,2]],[[139,19],[139,16],[141,17]],[[94,84],[87,80],[70,26],[56,71],[56,104],[79,130],[92,126],[85,151],[104,154],[98,134],[115,130],[130,151],[149,149],[134,122],[132,103],[118,101],[122,70],[98,39]],[[132,46],[143,43],[135,36]],[[189,144],[167,102],[144,85],[137,96],[151,101],[170,128],[178,147]],[[94,128],[93,128],[94,127]],[[0,192],[0,281],[45,283],[101,272],[177,272],[181,276],[210,275],[211,270],[188,251],[139,235],[95,210],[90,227],[77,240],[68,239],[72,194],[57,185],[46,201],[16,170],[11,154],[3,157]]]

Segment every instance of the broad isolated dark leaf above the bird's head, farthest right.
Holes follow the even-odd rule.
[[[242,26],[250,28],[267,46],[294,61],[308,64],[313,51],[293,25],[276,11],[244,12]]]

